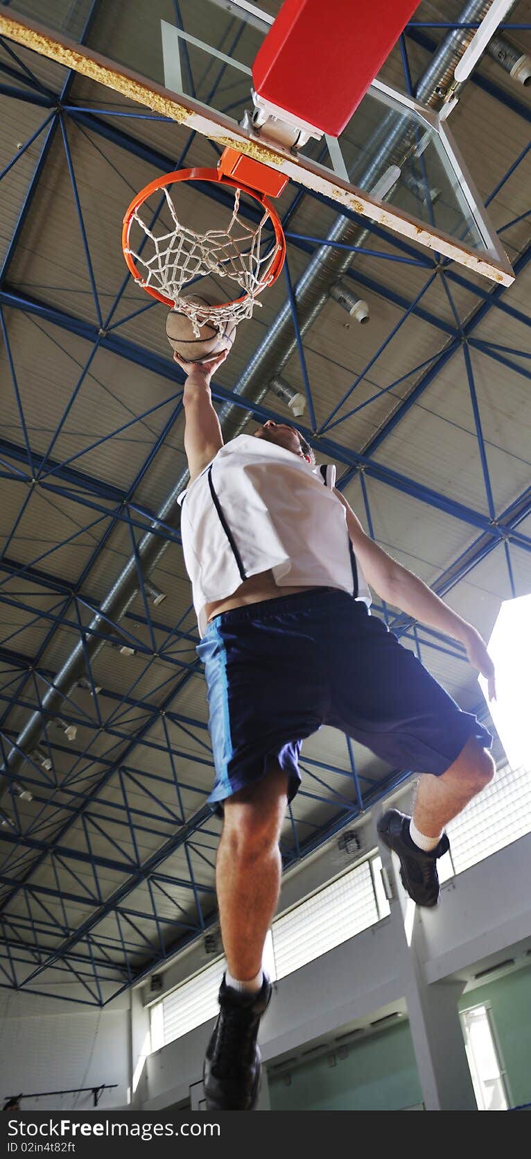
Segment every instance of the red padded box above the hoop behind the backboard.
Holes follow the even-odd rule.
[[[418,2],[285,0],[252,66],[255,90],[338,137]]]

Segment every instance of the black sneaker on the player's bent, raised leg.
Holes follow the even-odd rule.
[[[450,848],[445,833],[438,845],[429,853],[419,850],[410,836],[410,821],[406,814],[398,809],[388,809],[379,818],[376,829],[388,850],[397,854],[400,862],[400,877],[404,889],[418,905],[436,905],[441,896],[437,875],[437,858],[442,858]]]

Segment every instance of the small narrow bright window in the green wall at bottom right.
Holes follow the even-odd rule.
[[[460,1020],[478,1110],[507,1110],[504,1071],[500,1064],[491,1011],[487,1006],[474,1006],[464,1011]]]

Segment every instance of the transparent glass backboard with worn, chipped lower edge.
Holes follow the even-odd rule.
[[[448,123],[375,80],[341,136],[310,139],[295,155],[250,126],[251,66],[281,0],[19,0],[0,31],[116,94],[233,145],[347,210],[510,285],[514,274],[489,225]],[[36,21],[45,21],[46,29]],[[155,174],[154,174],[155,176]]]

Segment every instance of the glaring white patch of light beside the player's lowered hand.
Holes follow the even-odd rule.
[[[478,677],[507,759],[512,768],[531,767],[530,654],[531,592],[503,600],[488,651],[496,670],[496,699],[488,700],[487,681]]]

